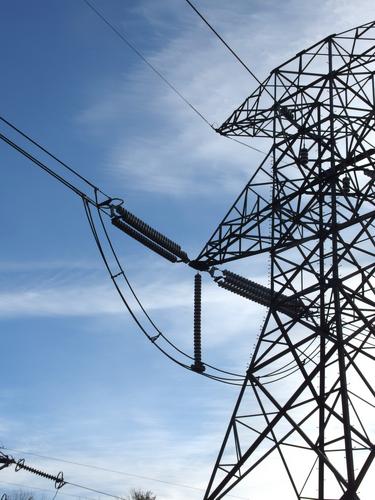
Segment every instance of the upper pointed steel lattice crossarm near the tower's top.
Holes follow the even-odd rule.
[[[370,32],[375,23],[369,23],[366,30]],[[345,91],[347,74],[356,71],[364,63],[368,63],[374,55],[374,46],[370,45],[366,50],[358,50],[351,54],[350,58],[343,57],[340,64],[331,72],[327,72],[326,66],[312,64],[311,53],[315,58],[323,58],[327,53],[327,46],[333,42],[339,46],[340,39],[345,34],[333,34],[320,42],[315,43],[306,50],[296,54],[270,72],[270,75],[258,88],[230,115],[230,117],[217,129],[217,132],[225,136],[242,137],[268,137],[274,138],[273,120],[275,114],[279,118],[285,118],[293,122],[296,116],[303,115],[308,107],[317,104],[325,105],[328,98],[319,96],[316,89],[324,88],[327,79],[335,78]],[[359,37],[360,34],[357,35]],[[301,74],[301,68],[304,68]],[[282,94],[274,93],[275,87],[284,87]],[[273,98],[272,98],[273,96]],[[366,96],[360,96],[364,104],[372,107],[371,100]]]

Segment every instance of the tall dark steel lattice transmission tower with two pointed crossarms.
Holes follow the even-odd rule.
[[[288,498],[362,499],[375,473],[374,71],[372,22],[274,69],[218,129],[272,146],[195,265],[269,254],[271,289],[215,271],[269,310],[206,500],[248,475],[251,495],[275,454]]]

